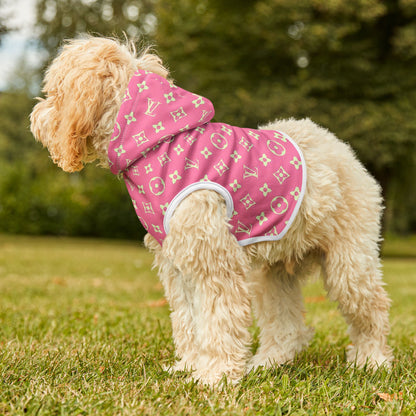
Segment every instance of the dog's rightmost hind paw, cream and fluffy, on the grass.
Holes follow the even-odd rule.
[[[369,368],[377,370],[379,367],[389,369],[393,361],[393,353],[390,347],[383,350],[378,348],[365,348],[361,346],[357,348],[354,345],[347,347],[347,361],[358,368]]]

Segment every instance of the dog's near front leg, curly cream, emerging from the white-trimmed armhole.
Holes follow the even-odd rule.
[[[180,204],[162,253],[182,285],[183,293],[171,291],[187,311],[173,316],[178,319],[173,326],[181,328],[174,329],[174,337],[192,334],[186,339],[192,344],[188,355],[197,357],[192,359],[193,377],[211,385],[224,375],[232,382],[239,380],[249,357],[248,261],[229,232],[224,203],[216,192],[197,191]],[[175,345],[181,341],[175,339]]]

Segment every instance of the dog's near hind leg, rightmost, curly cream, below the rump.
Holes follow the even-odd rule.
[[[383,288],[376,246],[367,240],[333,244],[324,260],[324,283],[329,298],[338,301],[349,325],[353,345],[347,351],[348,361],[358,367],[389,365],[393,358],[387,345],[390,300]]]

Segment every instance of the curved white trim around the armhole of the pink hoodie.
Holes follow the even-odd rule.
[[[227,191],[227,189],[225,189],[222,185],[216,182],[194,182],[188,185],[186,188],[182,189],[182,191],[177,193],[175,197],[172,199],[172,201],[170,201],[165,216],[163,218],[163,228],[165,229],[166,234],[169,233],[169,222],[172,218],[172,215],[178,208],[179,204],[192,192],[200,191],[203,189],[218,192],[225,199],[225,204],[227,207],[227,217],[232,217],[234,212],[234,202],[231,194]]]

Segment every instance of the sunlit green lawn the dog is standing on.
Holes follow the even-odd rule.
[[[169,310],[139,244],[0,235],[0,415],[414,415],[409,241],[410,255],[384,260],[392,371],[348,368],[345,323],[315,282],[304,290],[311,346],[215,391],[163,370],[174,360]],[[402,244],[389,240],[385,254]]]

